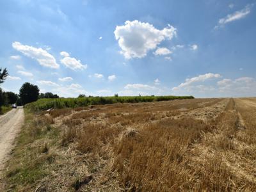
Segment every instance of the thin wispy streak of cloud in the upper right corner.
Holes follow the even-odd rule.
[[[233,22],[235,20],[243,19],[251,12],[253,4],[247,4],[243,10],[239,10],[237,12],[234,12],[232,14],[228,14],[226,17],[223,17],[219,20],[219,23],[217,26],[215,26],[214,29],[218,29],[220,26],[224,26],[228,22]]]

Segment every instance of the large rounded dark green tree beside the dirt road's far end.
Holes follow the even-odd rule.
[[[27,104],[29,102],[36,101],[39,97],[39,88],[35,84],[24,83],[20,88],[20,99],[22,104]]]

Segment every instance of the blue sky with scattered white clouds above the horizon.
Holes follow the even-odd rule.
[[[3,0],[5,91],[256,96],[256,1]]]

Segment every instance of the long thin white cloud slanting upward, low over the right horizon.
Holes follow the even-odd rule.
[[[180,90],[181,88],[189,87],[191,84],[196,82],[204,82],[205,80],[208,80],[208,79],[216,79],[220,77],[221,77],[220,74],[212,74],[212,73],[192,77],[191,79],[186,79],[184,83],[180,83],[179,86],[173,87],[172,90],[177,91],[177,90]]]

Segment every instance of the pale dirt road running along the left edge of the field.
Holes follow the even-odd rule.
[[[12,109],[0,116],[0,173],[4,168],[4,162],[13,148],[15,136],[20,131],[24,122],[22,108]]]

